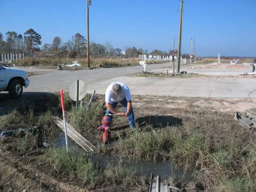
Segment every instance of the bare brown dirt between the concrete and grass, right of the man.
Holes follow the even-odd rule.
[[[162,128],[178,125],[188,132],[193,126],[204,127],[206,135],[224,146],[234,138],[245,145],[255,137],[234,121],[236,111],[245,113],[245,109],[256,108],[249,99],[133,96],[132,101],[135,121],[142,127],[146,123]],[[115,117],[113,126],[128,127],[128,120]]]

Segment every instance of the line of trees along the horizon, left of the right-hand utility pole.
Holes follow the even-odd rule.
[[[33,29],[27,30],[23,35],[15,31],[8,31],[5,35],[0,33],[0,54],[24,53],[26,56],[32,57],[87,57],[87,39],[79,33],[73,35],[67,42],[62,42],[61,38],[56,36],[53,38],[52,44],[41,45],[41,39],[41,35]],[[172,55],[173,52],[177,55],[177,50],[172,49],[168,52],[155,49],[148,53],[148,50],[142,48],[126,47],[125,54],[123,54],[120,48],[113,48],[110,42],[105,44],[90,42],[90,56],[95,58],[138,58],[140,54],[166,57]]]

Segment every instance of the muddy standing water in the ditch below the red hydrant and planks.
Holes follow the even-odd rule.
[[[68,138],[69,139],[69,138]],[[59,133],[56,138],[56,144],[59,147],[65,147],[65,135]],[[68,141],[69,146],[75,148],[76,150],[83,150],[75,143]],[[185,172],[182,168],[178,168],[172,162],[146,162],[146,161],[138,161],[135,159],[128,159],[125,157],[121,157],[121,155],[116,156],[106,156],[106,155],[93,155],[93,160],[97,162],[101,162],[101,165],[105,167],[109,163],[113,166],[116,166],[121,163],[121,165],[126,168],[136,171],[138,174],[142,174],[144,176],[150,176],[151,173],[154,176],[159,175],[162,180],[167,180],[169,177],[172,177],[174,181],[192,181],[193,176],[192,172]]]

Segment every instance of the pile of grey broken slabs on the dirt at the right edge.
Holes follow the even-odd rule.
[[[243,128],[256,134],[256,109],[246,109],[246,115],[236,112],[234,120],[238,121]]]

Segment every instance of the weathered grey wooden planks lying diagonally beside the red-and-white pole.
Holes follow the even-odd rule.
[[[64,130],[64,122],[63,120],[61,120],[59,117],[54,117],[54,120],[57,124],[57,122],[59,122],[58,125],[62,130]],[[72,136],[72,139],[79,144],[79,146],[81,146],[84,150],[86,151],[92,151],[95,152],[98,149],[91,144],[87,139],[85,139],[78,131],[76,131],[71,125],[69,125],[68,123],[66,123],[67,125],[67,132],[68,132],[68,136]],[[85,149],[86,148],[86,149]]]

